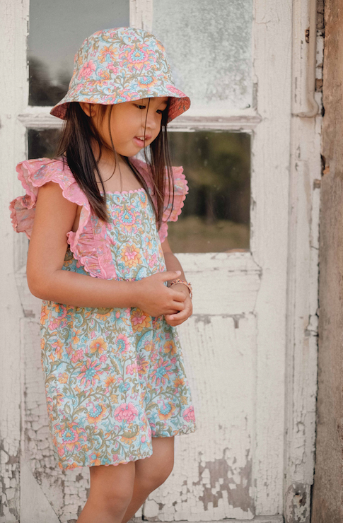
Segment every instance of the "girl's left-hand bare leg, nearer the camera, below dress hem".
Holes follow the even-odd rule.
[[[89,470],[91,490],[77,523],[120,523],[132,498],[134,462]]]

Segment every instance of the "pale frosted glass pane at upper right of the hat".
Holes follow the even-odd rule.
[[[158,0],[153,33],[165,46],[192,116],[252,105],[252,0]]]

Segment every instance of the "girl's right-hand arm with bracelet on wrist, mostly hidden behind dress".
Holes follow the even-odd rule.
[[[167,267],[167,271],[180,271],[181,274],[178,276],[180,280],[185,280],[185,273],[183,272],[182,266],[178,260],[178,258],[173,254],[172,250],[170,249],[169,242],[167,238],[162,243],[162,249],[165,259],[165,266]],[[174,278],[176,279],[176,278]],[[182,283],[176,283],[171,287],[173,289],[178,289],[180,292],[182,292],[185,295],[185,308],[178,312],[175,311],[173,314],[166,314],[165,315],[165,321],[169,324],[175,327],[176,325],[180,325],[181,323],[185,322],[187,318],[192,316],[193,307],[192,307],[192,300],[190,299],[190,291],[185,285],[182,285]]]

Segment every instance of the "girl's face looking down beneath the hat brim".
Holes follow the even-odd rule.
[[[112,151],[122,156],[134,156],[156,139],[161,130],[162,112],[167,107],[168,97],[141,98],[134,102],[122,102],[107,106],[102,117],[99,104],[81,104],[91,116],[101,138]],[[149,103],[149,110],[148,110]],[[108,111],[110,122],[108,121]],[[110,129],[109,129],[110,127]],[[145,129],[145,141],[144,141]]]

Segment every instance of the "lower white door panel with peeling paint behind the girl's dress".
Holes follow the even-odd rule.
[[[259,281],[255,273],[252,278]],[[25,274],[18,279],[18,288],[23,309],[30,311],[21,320],[25,462],[54,515],[61,523],[74,523],[86,503],[89,471],[83,467],[61,471],[54,461],[40,363],[40,300],[30,295]],[[255,298],[250,302],[255,303]],[[176,467],[181,467],[182,472],[173,476],[166,497],[146,502],[146,519],[250,519],[254,514],[250,454],[254,380],[246,376],[247,372],[253,376],[255,323],[254,314],[242,312],[194,315],[183,327],[180,334],[187,346],[185,363],[188,369],[192,367],[188,374],[194,396],[198,396],[199,430],[190,435],[197,440],[175,438]],[[212,359],[211,375],[207,362],[199,359],[199,347],[206,348]],[[229,419],[226,412],[231,412]],[[209,420],[216,428],[209,430]],[[163,488],[170,488],[170,483]],[[26,510],[29,512],[30,507]]]

